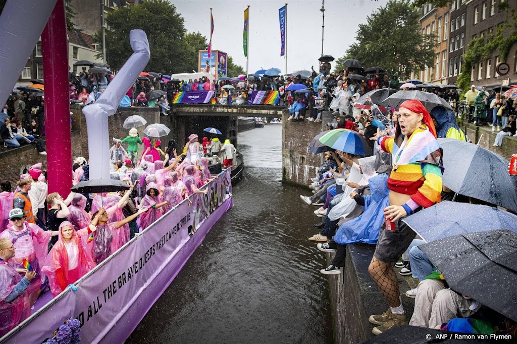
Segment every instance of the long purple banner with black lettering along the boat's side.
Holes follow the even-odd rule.
[[[195,249],[232,206],[230,169],[151,224],[65,289],[2,342],[42,343],[69,318],[81,321],[81,342],[121,343],[171,284]]]

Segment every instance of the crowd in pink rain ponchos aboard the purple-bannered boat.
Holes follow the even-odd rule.
[[[236,156],[230,140],[214,134],[202,142],[192,134],[183,149],[174,140],[165,151],[160,145],[158,133],[140,139],[136,128],[113,140],[111,178],[127,185],[119,192],[48,193],[42,163],[20,175],[14,191],[1,183],[0,337],[41,306],[43,294],[57,296],[179,203],[207,193],[210,163],[231,168]],[[70,168],[73,185],[89,180],[84,157]]]

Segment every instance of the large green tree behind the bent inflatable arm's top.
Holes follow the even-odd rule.
[[[147,0],[117,8],[108,13],[106,21],[111,28],[105,30],[106,58],[112,69],[120,69],[133,53],[129,32],[142,29],[147,34],[151,53],[145,70],[164,74],[191,71],[187,70],[188,61],[185,59],[184,19],[168,1]],[[100,31],[95,40],[102,44]]]

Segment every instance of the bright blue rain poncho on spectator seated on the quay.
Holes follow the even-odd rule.
[[[369,179],[372,194],[363,196],[364,212],[339,226],[334,241],[344,245],[352,242],[376,244],[384,223],[384,208],[389,205],[388,176],[379,174]]]

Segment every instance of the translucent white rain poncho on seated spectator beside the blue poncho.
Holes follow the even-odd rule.
[[[358,161],[361,168],[359,169],[359,165],[354,162],[346,182],[357,183],[361,186],[368,185],[368,179],[376,175],[374,169],[375,156],[361,158]],[[346,217],[357,205],[354,199],[349,197],[355,191],[355,188],[345,183],[343,184],[343,191],[344,196],[341,201],[328,212],[327,216],[332,221],[336,221],[340,217]]]

